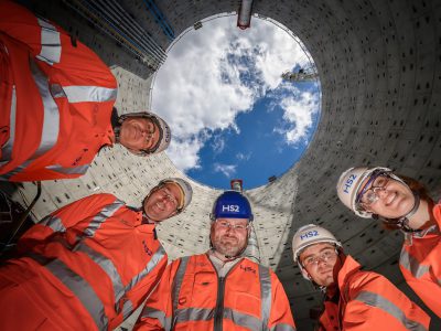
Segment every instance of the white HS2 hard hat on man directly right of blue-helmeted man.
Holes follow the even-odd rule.
[[[298,263],[300,266],[300,253],[302,253],[304,248],[319,243],[330,243],[342,248],[342,243],[326,228],[315,224],[308,224],[300,227],[292,237],[292,255],[294,263]]]

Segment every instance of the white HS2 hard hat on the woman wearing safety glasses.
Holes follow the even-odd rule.
[[[375,171],[383,171],[389,173],[395,180],[402,182],[401,179],[397,178],[396,175],[391,174],[391,170],[389,168],[384,167],[375,167],[375,168],[367,168],[367,167],[355,167],[349,168],[338,179],[337,182],[337,195],[342,203],[352,210],[356,215],[369,218],[372,217],[373,213],[366,212],[361,210],[356,205],[357,194],[363,184],[363,182],[369,178]]]

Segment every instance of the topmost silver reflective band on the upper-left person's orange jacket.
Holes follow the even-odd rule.
[[[42,49],[36,57],[50,65],[58,63],[62,56],[62,44],[60,41],[60,32],[51,23],[36,19],[41,29]]]

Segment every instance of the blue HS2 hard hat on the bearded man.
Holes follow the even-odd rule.
[[[213,221],[217,218],[254,220],[248,199],[237,191],[226,191],[217,196],[209,217]]]

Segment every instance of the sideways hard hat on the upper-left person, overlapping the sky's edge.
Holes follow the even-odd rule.
[[[118,121],[120,124],[122,124],[127,118],[130,118],[130,117],[149,118],[157,125],[157,127],[159,129],[159,139],[158,139],[158,142],[155,146],[153,146],[149,150],[140,150],[140,151],[133,151],[133,150],[128,149],[131,153],[141,156],[141,157],[146,157],[148,154],[159,153],[169,147],[170,141],[172,140],[172,132],[170,130],[169,125],[165,122],[165,120],[163,120],[161,117],[159,117],[158,115],[155,115],[153,113],[141,111],[141,113],[123,114],[118,118]]]

